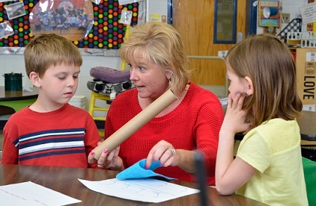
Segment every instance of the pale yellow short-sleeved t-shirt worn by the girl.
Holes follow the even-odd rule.
[[[268,205],[308,205],[296,120],[272,119],[251,129],[237,157],[258,170],[237,194]]]

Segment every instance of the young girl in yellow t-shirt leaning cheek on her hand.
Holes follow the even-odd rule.
[[[258,34],[234,46],[226,66],[230,95],[219,135],[217,191],[268,205],[308,205],[291,52],[277,37]],[[234,159],[234,136],[243,131]]]

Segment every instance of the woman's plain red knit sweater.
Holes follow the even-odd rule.
[[[119,94],[107,113],[105,139],[141,110],[136,89]],[[214,185],[218,133],[223,118],[224,112],[218,97],[191,83],[185,98],[176,109],[163,117],[154,117],[121,143],[119,157],[125,168],[130,167],[146,158],[152,146],[160,140],[168,141],[176,149],[202,150],[206,155],[208,184]],[[159,167],[154,172],[195,182],[195,176],[180,167]]]

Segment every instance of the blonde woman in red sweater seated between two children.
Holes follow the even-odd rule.
[[[123,170],[143,158],[145,169],[153,161],[163,167],[155,172],[183,181],[195,181],[194,154],[204,153],[208,184],[215,184],[218,132],[223,109],[211,91],[190,82],[183,39],[162,22],[137,25],[121,45],[121,58],[129,63],[135,89],[119,94],[105,122],[105,139],[150,103],[171,89],[178,100],[136,131],[111,153],[101,155],[99,165]],[[96,162],[93,154],[90,162]]]

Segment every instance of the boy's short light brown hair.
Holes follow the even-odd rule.
[[[27,77],[31,72],[43,77],[51,65],[82,65],[81,53],[77,46],[57,34],[42,34],[32,39],[25,47],[24,58]]]

